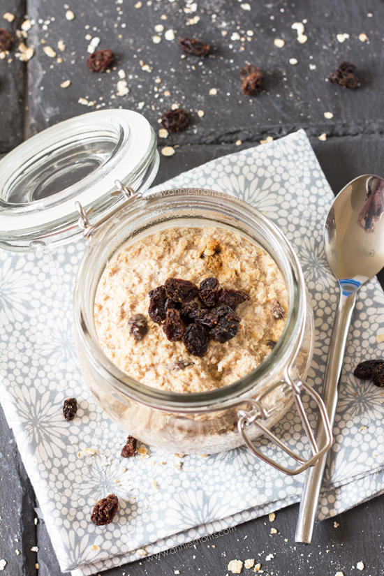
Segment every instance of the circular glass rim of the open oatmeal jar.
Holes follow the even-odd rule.
[[[165,411],[182,413],[219,410],[241,404],[244,401],[244,397],[256,385],[265,385],[271,378],[271,374],[275,375],[276,379],[279,374],[286,374],[300,349],[307,306],[304,276],[300,263],[288,239],[267,216],[246,202],[239,200],[239,198],[217,191],[192,188],[172,189],[156,193],[150,193],[149,191],[144,197],[141,197],[141,195],[140,197],[133,197],[131,205],[121,209],[121,219],[126,222],[129,219],[132,220],[133,214],[135,214],[136,219],[140,214],[144,216],[147,214],[147,217],[149,217],[148,214],[151,211],[154,213],[156,210],[160,210],[161,213],[165,214],[164,202],[168,202],[171,209],[172,205],[175,208],[177,207],[178,212],[182,212],[184,209],[191,213],[193,209],[212,209],[214,207],[221,214],[226,215],[227,219],[237,222],[237,219],[242,217],[255,230],[257,227],[259,230],[263,230],[263,234],[269,242],[269,249],[263,244],[262,247],[271,256],[273,253],[272,258],[274,258],[283,273],[289,296],[286,325],[276,346],[265,357],[263,362],[249,374],[230,385],[206,392],[180,393],[158,390],[136,381],[121,371],[103,353],[100,344],[98,344],[94,327],[94,294],[103,272],[100,268],[100,260],[103,260],[101,255],[103,249],[101,249],[101,246],[105,246],[105,242],[108,242],[108,237],[113,237],[113,234],[116,234],[115,227],[118,226],[116,222],[106,222],[92,237],[77,272],[73,300],[77,344],[82,346],[82,350],[87,353],[94,369],[102,377],[109,378],[109,381],[112,378],[112,386],[116,390],[139,401],[141,404],[147,404]],[[175,226],[175,222],[173,225]],[[223,227],[225,228],[226,226]],[[237,229],[235,231],[239,235],[246,237],[246,233],[241,230]],[[149,230],[148,233],[151,233],[151,231]],[[119,246],[121,247],[123,244],[124,242],[121,242]],[[112,251],[112,253],[115,253],[115,251]],[[278,258],[276,257],[277,253],[279,255]],[[97,269],[98,272],[96,272]],[[95,274],[98,276],[96,285]],[[92,283],[93,287],[90,291],[89,288]],[[89,297],[90,294],[91,297]]]

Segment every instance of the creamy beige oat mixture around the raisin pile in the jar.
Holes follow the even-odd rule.
[[[215,276],[222,288],[243,290],[251,299],[236,312],[242,318],[236,336],[225,344],[212,339],[207,354],[191,355],[183,341],[170,342],[161,325],[148,316],[149,290],[167,278],[197,286]],[[284,318],[272,316],[279,300]],[[119,369],[160,390],[203,392],[226,386],[256,368],[283,332],[288,293],[274,260],[265,250],[222,228],[167,228],[136,240],[115,254],[98,284],[94,318],[98,340]],[[148,320],[142,341],[129,334],[128,320],[141,313]],[[191,365],[172,369],[186,360]]]

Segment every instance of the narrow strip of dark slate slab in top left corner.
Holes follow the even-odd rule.
[[[26,13],[25,0],[3,0],[0,5],[0,28],[12,34],[15,44],[5,59],[0,59],[0,154],[9,152],[24,139],[24,85],[26,65],[15,58],[18,45],[16,30]],[[3,18],[15,15],[13,22]]]

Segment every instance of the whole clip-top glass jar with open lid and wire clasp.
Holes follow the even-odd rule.
[[[304,382],[312,355],[313,318],[300,264],[279,229],[237,198],[198,189],[142,195],[156,175],[158,161],[153,128],[132,110],[90,112],[47,128],[0,161],[0,247],[49,250],[80,235],[91,238],[74,295],[78,356],[98,403],[128,434],[184,453],[208,454],[246,443],[275,468],[299,473],[331,443],[324,404]],[[156,390],[121,372],[101,350],[94,326],[98,281],[108,260],[126,242],[166,226],[207,224],[234,230],[274,258],[288,289],[286,326],[262,364],[229,386],[198,394]],[[304,413],[302,390],[316,400],[325,421],[327,444],[321,450]],[[308,459],[285,447],[269,430],[293,401],[311,443]],[[300,466],[293,471],[263,455],[253,445],[260,433]]]

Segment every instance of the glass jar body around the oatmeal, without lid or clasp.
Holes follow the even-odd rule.
[[[286,282],[289,309],[278,343],[250,374],[216,390],[193,394],[156,390],[120,371],[98,344],[94,299],[108,261],[121,246],[170,226],[235,231],[262,246]],[[262,413],[262,427],[269,429],[293,403],[290,385],[295,378],[300,382],[305,378],[311,362],[313,315],[300,264],[288,240],[257,209],[212,190],[135,194],[112,219],[93,227],[77,273],[74,313],[82,374],[98,404],[127,434],[170,452],[210,454],[242,445],[239,414],[249,416],[244,412],[249,404],[259,416]],[[252,441],[261,431],[258,426],[249,427],[246,436]]]

